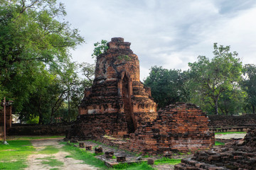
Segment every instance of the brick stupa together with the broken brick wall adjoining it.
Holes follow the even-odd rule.
[[[156,113],[151,89],[139,81],[139,59],[123,38],[112,38],[97,57],[95,80],[85,89],[78,120],[67,131],[73,140],[127,137],[119,147],[164,154],[208,149],[214,143],[208,118],[193,104],[177,103]]]

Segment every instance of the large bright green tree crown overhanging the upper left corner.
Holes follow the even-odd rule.
[[[3,0],[0,5],[0,96],[9,94],[21,111],[38,92],[42,70],[58,67],[84,40],[61,22],[65,8],[55,0]]]

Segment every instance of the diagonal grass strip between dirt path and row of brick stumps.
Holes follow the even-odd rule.
[[[98,168],[107,169],[107,166],[105,166],[104,162],[95,158],[92,153],[86,152],[85,149],[80,149],[79,147],[73,147],[70,145],[64,145],[63,149],[65,152],[69,152],[69,157],[72,157],[73,159],[82,160],[85,164],[89,164]]]

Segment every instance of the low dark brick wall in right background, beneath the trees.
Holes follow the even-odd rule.
[[[247,114],[240,116],[233,115],[208,115],[210,119],[210,127],[233,127],[240,125],[256,125],[256,114]]]

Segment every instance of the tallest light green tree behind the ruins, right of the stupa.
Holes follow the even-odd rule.
[[[241,79],[242,62],[237,52],[230,52],[230,46],[213,45],[213,59],[198,56],[198,62],[188,63],[195,91],[206,99],[218,115],[218,101],[225,91],[238,86]],[[210,99],[210,100],[209,100]],[[204,101],[203,101],[204,102]]]

